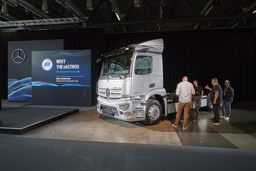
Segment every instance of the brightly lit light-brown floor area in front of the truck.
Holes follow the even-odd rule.
[[[107,116],[99,116],[95,107],[47,124],[22,136],[65,140],[89,140],[98,142],[127,142],[139,144],[181,145],[171,122],[155,126],[123,122]]]

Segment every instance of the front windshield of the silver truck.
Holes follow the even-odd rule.
[[[101,75],[128,75],[133,54],[123,54],[106,59],[102,66]]]

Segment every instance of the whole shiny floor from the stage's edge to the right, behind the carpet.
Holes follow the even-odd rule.
[[[146,126],[141,122],[124,122],[99,115],[95,106],[80,107],[79,112],[21,137],[256,149],[256,111],[233,108],[232,114],[232,124],[221,120],[220,125],[215,125],[209,122],[213,113],[201,111],[199,119],[182,130],[181,126],[173,128],[171,125],[173,116],[157,125]]]

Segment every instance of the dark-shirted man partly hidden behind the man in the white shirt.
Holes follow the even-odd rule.
[[[203,96],[203,88],[201,85],[198,85],[197,80],[193,81],[193,85],[194,85],[194,89],[195,89],[195,95],[193,95],[192,98],[193,98],[193,102],[195,104],[195,108],[192,110],[192,117],[193,117],[193,114],[196,113],[197,118],[199,118],[199,108],[201,108],[201,98]]]

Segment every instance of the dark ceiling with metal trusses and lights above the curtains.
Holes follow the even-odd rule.
[[[105,27],[131,32],[256,25],[255,0],[1,0],[0,5],[2,30]]]

